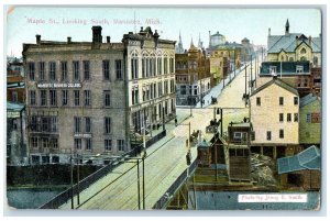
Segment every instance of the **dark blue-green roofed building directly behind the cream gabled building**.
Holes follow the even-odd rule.
[[[296,88],[300,97],[312,91],[309,62],[264,62],[261,65],[256,87],[272,80],[274,76]],[[319,78],[317,78],[319,79]]]

